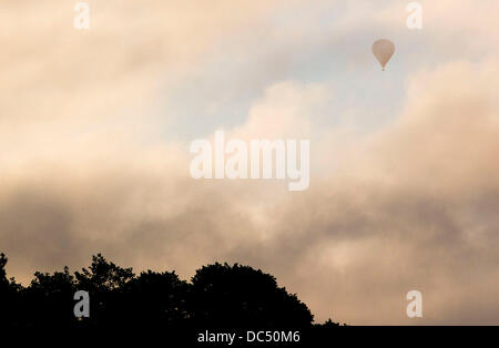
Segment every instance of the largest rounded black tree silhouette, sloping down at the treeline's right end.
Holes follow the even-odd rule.
[[[273,276],[237,264],[198,269],[190,305],[201,327],[294,328],[313,321],[307,306],[278,287]]]

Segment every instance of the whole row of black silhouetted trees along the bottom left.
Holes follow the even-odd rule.
[[[70,273],[34,274],[22,286],[6,274],[0,255],[2,327],[91,330],[120,328],[171,332],[221,329],[325,330],[338,324],[314,324],[314,316],[276,278],[238,264],[212,264],[190,282],[175,272],[122,268],[101,254],[90,267]],[[80,296],[79,294],[88,294]],[[88,308],[84,308],[88,305]],[[80,314],[80,315],[78,315]]]

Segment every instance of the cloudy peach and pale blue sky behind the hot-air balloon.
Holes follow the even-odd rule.
[[[9,276],[237,262],[317,321],[499,324],[497,0],[419,1],[420,30],[401,0],[86,2],[89,30],[77,1],[0,4]],[[216,130],[308,139],[309,187],[193,180]]]

